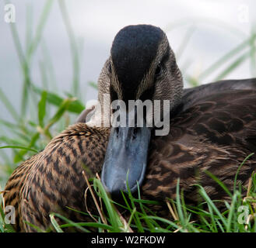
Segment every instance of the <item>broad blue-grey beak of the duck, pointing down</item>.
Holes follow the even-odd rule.
[[[101,180],[111,195],[134,192],[142,184],[147,164],[151,129],[146,127],[112,127],[103,164]],[[128,186],[128,188],[127,188]]]

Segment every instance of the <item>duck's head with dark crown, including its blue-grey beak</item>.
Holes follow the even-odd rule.
[[[121,29],[114,38],[99,86],[101,95],[109,92],[111,102],[122,100],[126,107],[128,100],[140,99],[162,103],[168,100],[170,110],[175,108],[183,83],[166,34],[150,25]],[[163,105],[160,108],[163,111]],[[123,110],[128,112],[128,108]],[[137,125],[139,119],[142,127]],[[151,129],[146,126],[144,114],[135,119],[135,126],[112,126],[101,174],[103,185],[111,194],[127,191],[127,184],[131,191],[136,191],[137,181],[142,184]]]

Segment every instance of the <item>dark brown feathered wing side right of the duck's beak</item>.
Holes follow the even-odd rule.
[[[198,183],[212,198],[223,199],[228,195],[204,171],[232,191],[238,167],[256,151],[255,90],[229,89],[197,100],[171,120],[168,136],[153,138],[142,187],[147,198],[175,198],[180,178],[191,200],[197,200]],[[241,167],[238,182],[247,186],[254,170],[255,155]]]

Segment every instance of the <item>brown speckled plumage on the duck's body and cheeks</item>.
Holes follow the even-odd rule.
[[[165,47],[169,46],[165,36],[163,40],[156,53],[157,60],[163,56],[162,53],[166,53]],[[170,133],[151,137],[146,176],[141,188],[142,198],[163,202],[165,198],[174,198],[177,179],[180,178],[185,198],[191,202],[198,201],[194,186],[198,183],[212,199],[228,200],[228,195],[204,171],[215,174],[232,191],[240,163],[255,152],[256,79],[219,81],[185,89],[179,95],[181,74],[174,54],[171,50],[167,52],[170,57],[165,62],[167,70],[156,79],[155,86],[150,87],[155,87],[151,94],[153,99],[170,99]],[[121,95],[117,77],[113,69],[109,70],[110,61],[111,58],[104,65],[98,83],[100,103],[103,103],[103,93],[110,93],[113,98],[114,94],[110,92],[112,81]],[[149,72],[156,70],[158,63],[154,63]],[[147,77],[152,76],[149,73]],[[139,86],[142,95],[149,88],[147,77],[142,80],[146,86]],[[92,127],[98,122],[97,118],[96,110],[92,122],[69,126],[51,140],[43,151],[23,162],[13,172],[6,184],[4,198],[5,205],[14,205],[18,209],[18,231],[35,231],[23,221],[46,229],[50,224],[50,212],[61,212],[74,221],[91,221],[89,216],[69,211],[66,206],[86,211],[86,181],[82,171],[88,168],[87,171],[93,175],[102,170],[110,128]],[[243,185],[244,193],[255,170],[254,155],[241,167],[237,177],[237,183]],[[163,215],[167,213],[166,210],[166,206],[158,209]]]

